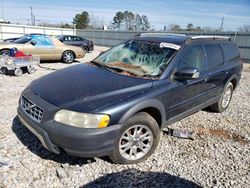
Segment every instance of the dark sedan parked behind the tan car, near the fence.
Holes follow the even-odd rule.
[[[94,50],[94,44],[92,41],[84,39],[82,37],[73,35],[58,35],[56,36],[64,44],[69,44],[73,46],[79,46],[85,50],[85,52],[90,52]]]

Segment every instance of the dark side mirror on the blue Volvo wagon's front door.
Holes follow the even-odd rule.
[[[194,80],[199,78],[200,72],[196,68],[183,68],[177,71],[174,75],[175,79]]]

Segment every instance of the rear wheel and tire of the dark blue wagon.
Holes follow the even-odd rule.
[[[224,112],[228,108],[231,102],[233,89],[234,89],[234,86],[232,82],[229,82],[224,88],[219,101],[213,104],[212,106],[210,106],[211,110],[213,110],[214,112],[218,112],[218,113]]]

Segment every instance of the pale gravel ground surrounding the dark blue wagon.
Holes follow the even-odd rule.
[[[96,47],[80,61],[103,49]],[[53,154],[20,124],[16,108],[22,90],[52,71],[38,68],[18,78],[0,74],[0,187],[250,187],[249,67],[226,112],[200,111],[171,126],[194,131],[194,140],[163,131],[155,154],[135,165]]]

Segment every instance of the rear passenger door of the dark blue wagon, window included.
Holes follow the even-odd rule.
[[[223,91],[228,72],[225,71],[225,59],[219,44],[204,45],[207,60],[209,99],[219,97]]]

